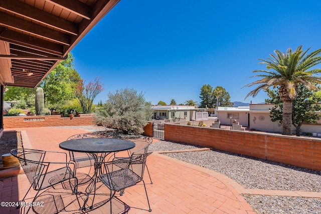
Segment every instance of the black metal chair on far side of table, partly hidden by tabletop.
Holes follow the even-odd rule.
[[[74,139],[81,139],[81,138],[98,138],[98,137],[93,134],[75,134],[68,137],[67,140],[74,140]],[[70,156],[70,160],[75,162],[76,168],[90,166],[90,169],[91,169],[91,166],[94,165],[94,162],[95,162],[94,157],[85,152],[69,151],[69,156]]]

